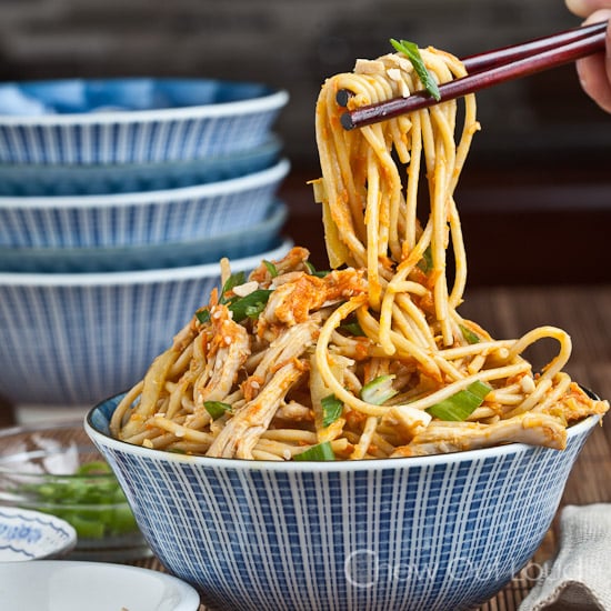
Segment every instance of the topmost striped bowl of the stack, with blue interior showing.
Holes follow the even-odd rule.
[[[0,162],[149,163],[262,144],[288,93],[208,79],[110,79],[0,86]]]

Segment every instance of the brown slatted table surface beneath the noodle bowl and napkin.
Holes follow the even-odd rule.
[[[568,372],[600,397],[611,398],[611,286],[477,288],[467,292],[460,312],[497,338],[514,338],[541,324],[561,327],[573,341]],[[528,355],[537,364],[549,358],[554,349],[553,343],[537,345]],[[0,408],[0,424],[11,422],[10,408]],[[569,478],[560,510],[567,504],[611,502],[610,474],[611,415],[585,443]],[[537,570],[532,569],[553,555],[558,534],[554,522],[531,565],[481,611],[518,609],[533,584],[532,575]],[[162,570],[154,558],[133,563]]]

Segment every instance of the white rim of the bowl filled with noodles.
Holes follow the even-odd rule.
[[[559,452],[563,450],[553,450],[551,448],[544,448],[540,445],[529,445],[527,443],[505,443],[502,445],[494,445],[491,448],[482,448],[478,450],[464,450],[461,452],[451,452],[445,454],[431,454],[425,457],[405,457],[405,458],[385,458],[385,459],[371,459],[371,460],[345,460],[345,461],[272,461],[272,460],[247,460],[247,459],[228,459],[228,458],[211,458],[201,455],[186,455],[173,452],[167,452],[164,450],[156,450],[151,448],[144,448],[142,445],[133,445],[114,439],[110,434],[107,434],[93,425],[93,414],[108,401],[112,401],[120,397],[122,393],[110,397],[103,401],[98,402],[97,405],[91,408],[83,419],[83,427],[91,438],[91,440],[98,444],[109,447],[120,452],[128,452],[136,454],[140,458],[148,458],[150,460],[163,460],[171,463],[182,463],[202,468],[227,468],[236,471],[278,471],[278,472],[300,472],[300,473],[315,473],[315,472],[333,472],[345,473],[354,471],[383,471],[388,469],[410,469],[411,468],[429,468],[438,464],[453,464],[464,461],[483,461],[491,458],[500,458],[511,453],[524,453],[527,451],[553,451]],[[592,414],[583,420],[572,424],[567,429],[568,438],[578,437],[591,430],[597,422],[600,421],[599,414]]]

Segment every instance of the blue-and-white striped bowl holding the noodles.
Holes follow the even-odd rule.
[[[117,441],[121,397],[86,430],[156,555],[213,609],[461,611],[532,557],[598,421],[564,451],[511,443],[425,458],[210,459]]]

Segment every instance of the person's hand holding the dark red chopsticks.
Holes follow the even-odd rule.
[[[585,17],[584,24],[611,20],[611,0],[565,0],[568,9]],[[603,110],[611,112],[611,28],[607,30],[607,50],[578,60],[581,87]]]

